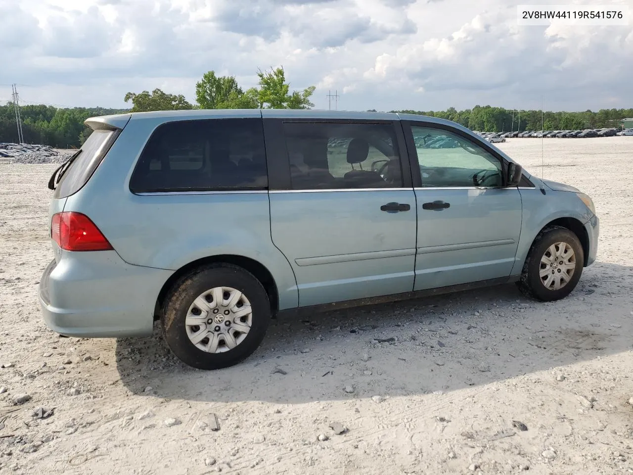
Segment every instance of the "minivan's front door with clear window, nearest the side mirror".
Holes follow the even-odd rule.
[[[415,154],[415,290],[510,276],[522,203],[517,187],[503,187],[503,159],[448,126],[405,122],[404,130]]]

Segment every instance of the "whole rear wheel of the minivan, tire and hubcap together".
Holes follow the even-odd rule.
[[[249,357],[260,346],[270,317],[270,301],[261,282],[241,267],[217,263],[173,284],[161,323],[174,355],[189,366],[210,370]]]

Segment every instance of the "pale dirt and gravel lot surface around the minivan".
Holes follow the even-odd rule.
[[[499,146],[541,175],[540,139]],[[48,331],[54,165],[1,165],[0,473],[633,472],[632,155],[633,137],[544,140],[545,177],[601,218],[598,262],[565,300],[510,285],[277,320],[215,372],[180,364],[157,331]]]

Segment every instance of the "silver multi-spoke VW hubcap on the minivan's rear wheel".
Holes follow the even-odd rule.
[[[244,294],[232,287],[215,287],[193,301],[185,328],[196,348],[223,353],[244,341],[252,322],[253,309]]]

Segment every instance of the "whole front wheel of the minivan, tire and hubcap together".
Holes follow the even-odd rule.
[[[564,244],[564,247],[561,244]],[[570,255],[568,250],[572,250],[573,255]],[[555,253],[563,251],[556,260],[558,262],[549,260],[553,251]],[[560,262],[563,262],[563,265],[560,265]],[[572,264],[573,268],[568,267]],[[575,289],[583,267],[584,251],[578,237],[564,227],[547,227],[534,239],[517,285],[522,293],[530,298],[541,301],[560,300]],[[565,276],[561,276],[563,273],[568,277],[566,283],[563,283],[565,281]]]

